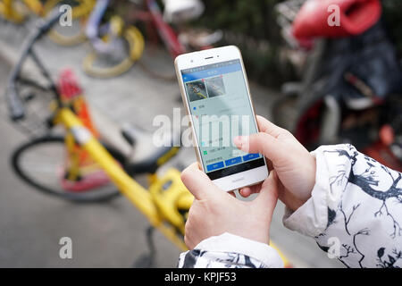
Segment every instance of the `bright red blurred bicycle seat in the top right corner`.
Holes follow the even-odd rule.
[[[293,35],[300,43],[358,35],[380,17],[379,0],[307,0],[293,22]]]

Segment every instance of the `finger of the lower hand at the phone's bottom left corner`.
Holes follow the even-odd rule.
[[[199,169],[198,163],[190,164],[181,172],[181,181],[197,199],[211,198],[224,193],[218,189],[209,177]]]

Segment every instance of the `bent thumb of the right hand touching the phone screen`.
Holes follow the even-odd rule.
[[[277,158],[288,156],[282,147],[282,143],[264,132],[250,136],[238,136],[233,139],[233,143],[243,152],[263,154],[272,162],[276,161]]]

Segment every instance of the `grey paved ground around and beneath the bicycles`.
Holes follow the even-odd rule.
[[[0,25],[4,25],[0,23]],[[9,63],[13,63],[24,29],[2,26],[0,29],[0,90],[3,94]],[[181,107],[179,89],[174,81],[155,80],[138,66],[113,80],[96,80],[84,75],[80,60],[87,45],[61,47],[48,40],[38,45],[38,53],[54,72],[71,66],[80,76],[91,105],[114,122],[131,122],[147,128],[157,114],[172,117],[172,109]],[[148,61],[171,69],[169,57],[148,55]],[[154,61],[154,62],[153,62]],[[258,114],[269,117],[275,92],[251,84]],[[4,114],[2,114],[4,115]],[[0,267],[130,267],[144,253],[147,221],[125,198],[107,204],[77,205],[48,198],[19,181],[8,160],[16,146],[26,139],[6,120],[0,121]],[[183,148],[172,164],[195,161],[192,149]],[[275,211],[272,240],[298,267],[338,267],[319,250],[314,241],[285,229],[281,224],[283,206]],[[73,258],[59,258],[58,242],[71,237]],[[179,249],[156,234],[157,266],[174,266]]]

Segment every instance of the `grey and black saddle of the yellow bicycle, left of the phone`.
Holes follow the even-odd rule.
[[[138,126],[126,124],[121,135],[132,146],[127,158],[130,174],[153,173],[159,166],[169,161],[179,151],[173,142],[180,142],[180,133],[171,130],[150,132]]]

